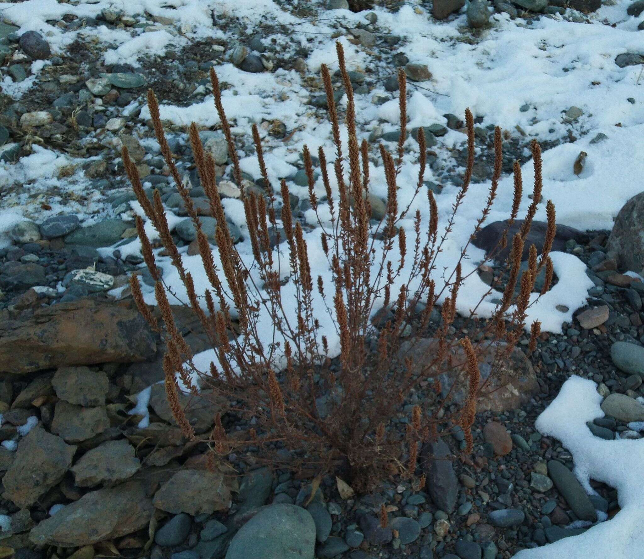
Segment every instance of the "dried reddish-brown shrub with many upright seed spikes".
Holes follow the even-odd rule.
[[[303,161],[308,177],[310,206],[318,216],[317,231],[320,246],[328,259],[332,282],[328,284],[312,270],[308,259],[307,235],[301,223],[294,219],[290,209],[289,189],[285,181],[273,188],[265,165],[261,138],[254,126],[252,137],[257,153],[264,195],[245,190],[237,159],[231,128],[223,110],[218,79],[211,70],[215,106],[223,133],[229,145],[232,177],[242,190],[248,235],[254,257],[252,264],[242,258],[227,226],[222,200],[217,190],[213,158],[204,152],[197,127],[189,128],[194,161],[201,183],[210,202],[211,213],[217,219],[216,248],[213,248],[201,230],[200,219],[194,210],[189,190],[180,179],[173,162],[159,117],[154,93],[148,93],[149,110],[161,153],[166,160],[176,188],[182,196],[188,215],[197,231],[197,244],[209,286],[204,293],[196,293],[191,273],[184,268],[180,250],[173,241],[164,208],[158,192],[149,201],[142,188],[137,168],[123,150],[123,161],[133,189],[147,219],[158,233],[165,254],[178,271],[187,291],[187,304],[193,309],[216,355],[216,364],[208,370],[197,370],[193,355],[173,319],[162,277],[155,263],[155,251],[149,241],[144,223],[137,220],[142,241],[142,252],[156,280],[156,301],[164,322],[167,355],[164,358],[166,389],[171,409],[185,436],[194,438],[194,431],[178,403],[178,377],[188,391],[196,391],[194,378],[202,388],[212,390],[214,397],[225,397],[230,409],[225,417],[217,415],[214,429],[205,439],[211,449],[211,463],[218,456],[231,451],[254,447],[256,455],[279,467],[300,467],[319,473],[339,470],[350,480],[354,489],[365,489],[385,476],[399,475],[411,478],[414,486],[424,485],[424,476],[417,476],[419,447],[427,440],[448,432],[451,426],[462,427],[467,443],[473,446],[471,426],[475,419],[478,398],[501,371],[509,355],[526,329],[527,308],[538,271],[545,266],[548,289],[553,277],[552,262],[548,257],[554,239],[554,208],[547,205],[549,229],[540,259],[536,248],[529,250],[527,271],[519,275],[521,257],[530,224],[541,197],[541,157],[536,142],[532,144],[535,164],[533,204],[526,221],[512,239],[511,256],[506,268],[509,280],[503,290],[502,302],[487,320],[477,318],[477,308],[465,317],[468,329],[455,325],[457,296],[466,280],[462,273],[462,259],[469,242],[474,239],[497,196],[502,165],[502,136],[495,132],[495,168],[489,195],[480,219],[474,224],[469,242],[462,248],[453,270],[440,270],[440,282],[433,279],[436,259],[454,224],[455,215],[470,187],[475,162],[474,122],[466,112],[469,157],[464,181],[455,198],[451,216],[444,230],[439,231],[437,203],[431,190],[423,184],[426,168],[426,142],[419,130],[420,171],[413,186],[414,198],[426,191],[428,219],[415,211],[412,217],[413,235],[401,222],[409,219],[410,204],[400,207],[397,199],[397,177],[403,160],[403,142],[394,157],[383,145],[377,155],[384,166],[388,197],[386,215],[381,223],[370,222],[372,209],[369,190],[369,157],[371,147],[360,142],[355,126],[355,105],[343,50],[337,45],[339,67],[347,93],[345,124],[348,143],[341,140],[341,119],[334,102],[330,72],[322,66],[321,74],[328,97],[328,118],[332,126],[337,187],[327,171],[327,155],[320,148],[321,180],[326,194],[330,218],[319,214],[321,202],[316,195],[316,176],[313,157],[304,148]],[[401,83],[401,123],[407,121],[405,77]],[[404,133],[401,135],[404,138]],[[279,197],[275,195],[279,192]],[[515,165],[515,203],[511,222],[516,219],[522,196],[520,168]],[[507,230],[506,230],[507,233]],[[412,237],[408,239],[408,235]],[[274,243],[274,240],[277,242]],[[308,237],[311,242],[312,237]],[[283,240],[283,244],[280,241]],[[274,244],[278,248],[274,248]],[[498,250],[507,244],[504,234]],[[214,263],[213,250],[218,251],[221,266]],[[493,257],[493,255],[491,255]],[[409,262],[411,266],[406,266]],[[471,272],[475,273],[475,272]],[[261,278],[258,285],[254,278]],[[283,299],[283,286],[290,284],[296,296]],[[515,288],[518,286],[518,295]],[[489,293],[499,287],[498,280]],[[137,277],[131,280],[132,293],[144,317],[156,324],[144,303]],[[317,294],[316,294],[317,291]],[[317,298],[319,295],[319,298]],[[317,298],[317,299],[316,299]],[[314,308],[314,299],[323,304]],[[439,309],[442,323],[433,327],[430,316]],[[480,304],[480,303],[479,303]],[[376,308],[374,306],[377,305]],[[372,323],[374,311],[391,309],[386,324]],[[292,309],[296,309],[296,313]],[[260,322],[261,313],[270,317],[270,325]],[[339,356],[328,357],[328,340],[320,326],[320,317],[332,317],[339,338]],[[294,319],[294,317],[296,317]],[[261,329],[270,328],[273,342],[265,344]],[[538,322],[529,326],[529,349],[536,346],[540,334]],[[411,333],[410,333],[411,331]],[[435,351],[421,362],[410,357],[417,341],[431,335],[436,340]],[[404,342],[404,345],[403,345]],[[403,348],[406,348],[403,350]],[[478,370],[478,356],[493,352],[491,375],[482,381]],[[453,382],[443,389],[440,378],[449,375]],[[465,392],[464,403],[457,404],[454,396]],[[403,409],[410,398],[421,402],[410,406],[406,431],[400,431]],[[420,395],[420,397],[418,397]],[[253,420],[253,427],[243,431],[227,432],[225,425],[239,424],[241,419]],[[246,424],[247,425],[247,424]],[[286,460],[279,449],[289,449]],[[381,516],[386,525],[386,511]]]

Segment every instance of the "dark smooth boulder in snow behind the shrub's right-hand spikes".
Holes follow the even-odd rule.
[[[494,221],[486,225],[482,230],[478,231],[477,236],[473,240],[473,245],[477,248],[482,248],[486,251],[486,254],[492,253],[495,260],[504,260],[507,258],[507,255],[510,253],[512,247],[512,239],[516,233],[519,232],[521,226],[523,225],[524,220],[517,219],[507,231],[507,246],[504,250],[495,250],[497,247],[498,241],[501,239],[503,231],[506,230],[507,221]],[[541,253],[541,249],[544,246],[545,240],[545,231],[547,230],[548,224],[545,221],[533,221],[530,228],[530,232],[527,234],[526,243],[524,246],[524,253],[522,260],[527,260],[528,251],[530,250],[530,245],[534,244],[536,246],[537,253]],[[579,244],[588,242],[589,237],[586,233],[568,227],[566,225],[558,225],[556,234],[554,235],[554,242],[552,250],[556,251],[565,251],[565,244],[569,240],[574,240]]]

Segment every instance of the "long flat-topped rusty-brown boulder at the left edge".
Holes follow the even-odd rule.
[[[0,322],[0,372],[151,359],[156,340],[131,302],[81,299]]]

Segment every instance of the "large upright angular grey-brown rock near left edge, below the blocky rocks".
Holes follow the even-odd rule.
[[[33,427],[18,443],[15,459],[3,477],[3,497],[21,509],[30,507],[62,480],[75,451],[75,446],[59,436]]]

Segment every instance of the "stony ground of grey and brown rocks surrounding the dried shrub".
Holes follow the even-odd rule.
[[[604,5],[613,5],[611,1]],[[343,0],[276,4],[285,13],[309,19],[346,8]],[[405,6],[393,2],[387,9],[395,13]],[[432,25],[455,17],[451,14],[463,6],[461,0],[414,4],[428,12]],[[583,23],[599,6],[585,0],[565,6],[557,0],[498,1],[493,15],[475,0],[466,8],[459,41],[477,43],[478,30],[499,14],[518,18],[524,26],[547,17]],[[644,4],[640,0],[625,10],[638,17]],[[324,119],[326,101],[317,75],[307,70],[315,50],[281,27],[276,37],[278,24],[252,26],[234,15],[218,15],[216,21],[213,16],[214,29],[225,29],[228,35],[213,32],[214,38],[184,41],[189,28],[171,17],[117,9],[87,16],[72,11],[62,10],[50,19],[70,39],[55,52],[46,34],[19,33],[18,26],[0,23],[0,160],[6,164],[0,210],[9,210],[0,215],[13,220],[0,248],[4,557],[507,559],[519,549],[573,536],[618,512],[616,491],[596,484],[600,497],[589,498],[571,473],[572,456],[533,426],[574,374],[597,382],[605,397],[606,417],[589,424],[594,435],[640,437],[638,425],[632,424],[644,421],[638,400],[644,397],[644,283],[623,272],[644,266],[641,256],[633,256],[641,254],[641,246],[638,253],[637,230],[631,223],[641,202],[625,208],[618,221],[623,226],[616,224],[610,241],[605,230],[567,236],[560,232],[557,249],[583,260],[595,284],[587,306],[564,324],[563,334],[542,335],[521,373],[518,398],[501,393],[491,409],[478,414],[471,458],[453,464],[432,458],[422,462],[428,479],[424,489],[384,484],[371,495],[347,495],[327,476],[311,498],[315,473],[269,471],[257,466],[252,453],[230,455],[229,467],[220,473],[207,471],[205,445],[182,438],[163,386],[155,384],[163,378],[162,343],[138,316],[124,288],[131,273],[140,273],[144,282],[150,278],[137,251],[126,248],[135,242],[134,196],[118,151],[128,146],[148,192],[158,188],[167,208],[185,217],[146,121],[147,88],[162,103],[187,108],[211,93],[209,68],[232,63],[249,80],[276,76],[284,95],[294,93],[305,107],[308,120],[301,122],[317,123]],[[375,12],[363,15],[358,25],[340,18],[328,24],[329,35],[346,37],[371,57],[370,64],[351,73],[359,99],[374,107],[396,99],[398,67],[405,69],[411,89],[430,87],[430,68],[410,62],[406,38],[381,28]],[[176,46],[148,54],[137,66],[107,63],[106,52],[115,44],[97,38],[102,28],[128,38],[164,32],[176,37]],[[629,50],[612,62],[628,68],[643,64],[643,56]],[[282,72],[295,72],[299,81],[287,83]],[[335,86],[339,99],[343,92],[337,76]],[[636,103],[630,99],[629,104]],[[528,105],[520,108],[522,113],[530,110]],[[583,116],[582,109],[565,106],[560,126],[544,133],[544,150],[587,134],[589,130],[575,124]],[[292,147],[291,138],[301,130],[285,121],[261,119],[267,150]],[[495,123],[482,114],[476,122],[482,149],[474,181],[483,182],[491,176],[486,148]],[[361,130],[372,141],[397,141],[399,132],[386,119],[369,124],[361,123]],[[426,127],[433,170],[427,186],[437,194],[460,184],[464,141],[448,142],[446,137],[462,126],[457,116],[446,113],[444,124]],[[222,196],[238,198],[238,186],[227,181],[229,155],[221,133],[207,124],[202,129],[202,140],[218,165]],[[167,130],[195,204],[207,207],[184,126],[169,122]],[[504,173],[515,159],[526,162],[530,157],[526,148],[531,136],[521,126],[507,132]],[[240,153],[251,154],[247,130],[235,133]],[[592,138],[603,142],[605,134],[593,133]],[[308,202],[302,194],[306,182],[301,161],[293,157],[276,173],[288,179],[296,218],[303,219]],[[245,180],[245,188],[257,186],[251,173]],[[374,219],[381,217],[383,207],[384,201],[372,200]],[[19,215],[10,213],[14,210]],[[204,226],[214,231],[214,219],[205,217]],[[232,222],[231,228],[242,239],[243,231]],[[187,253],[194,251],[189,220],[178,222],[175,239]],[[479,273],[491,282],[502,271],[482,266]],[[191,317],[182,309],[177,312],[194,353],[205,349]],[[149,387],[149,401],[140,397],[137,406],[137,395]],[[193,402],[189,418],[198,433],[208,431],[215,411],[205,402]],[[239,425],[234,417],[225,420]],[[463,445],[456,430],[436,447],[426,448],[426,454],[448,455]],[[383,504],[389,513],[386,528],[377,521]]]

